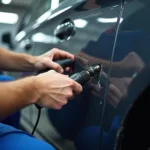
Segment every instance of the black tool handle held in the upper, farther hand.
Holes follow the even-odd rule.
[[[72,59],[57,60],[55,62],[58,63],[63,69],[65,69],[66,67],[73,67],[73,60]],[[40,70],[40,71],[38,71],[38,74],[47,72],[49,70],[51,70],[51,69],[46,68],[44,70]]]

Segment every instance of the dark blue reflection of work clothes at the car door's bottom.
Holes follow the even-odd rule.
[[[119,125],[120,117],[116,116],[110,131],[108,133],[104,131],[102,134],[102,150],[113,150]],[[75,141],[77,150],[97,150],[100,142],[100,130],[99,126],[90,126],[83,129]]]

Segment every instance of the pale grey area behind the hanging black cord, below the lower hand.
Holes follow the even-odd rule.
[[[29,133],[31,133],[33,129],[37,114],[37,109],[33,105],[22,110],[21,126]],[[47,141],[48,143],[53,143],[60,150],[76,150],[74,144],[71,141],[62,138],[57,133],[57,131],[49,121],[45,109],[42,110],[40,122],[37,129],[42,134],[40,134],[39,132],[35,132],[34,136],[36,138]]]

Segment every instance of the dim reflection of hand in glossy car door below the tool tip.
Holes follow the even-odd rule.
[[[102,73],[103,78],[106,80],[107,75],[103,72]],[[108,92],[107,92],[107,102],[110,103],[113,107],[117,107],[120,103],[120,100],[127,95],[127,89],[129,84],[131,83],[131,78],[110,78],[110,83],[108,86]],[[106,84],[107,81],[105,81]],[[98,84],[95,84],[93,82],[90,83],[91,86],[91,92],[95,96],[100,97],[101,99],[104,99],[104,94],[106,92],[105,86]]]

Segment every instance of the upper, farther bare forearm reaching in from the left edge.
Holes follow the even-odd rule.
[[[4,71],[34,71],[35,57],[0,48],[0,69]]]

